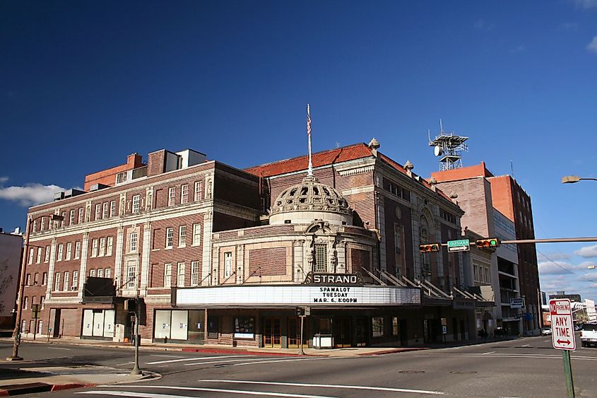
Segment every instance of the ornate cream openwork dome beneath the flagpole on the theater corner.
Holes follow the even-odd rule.
[[[336,189],[322,184],[316,177],[307,176],[300,184],[293,185],[278,195],[271,206],[270,224],[288,222],[287,220],[291,223],[303,223],[324,219],[350,225],[352,214],[348,202]]]

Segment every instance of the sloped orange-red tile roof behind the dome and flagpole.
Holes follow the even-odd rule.
[[[312,163],[313,167],[317,168],[324,165],[331,165],[333,163],[367,158],[369,156],[373,156],[371,148],[369,148],[367,144],[360,143],[350,146],[343,146],[342,148],[331,149],[329,151],[313,153]],[[299,156],[297,158],[278,160],[277,162],[266,163],[264,165],[258,165],[252,168],[246,168],[244,171],[261,177],[271,177],[273,175],[307,170],[308,167],[309,157],[305,155]]]

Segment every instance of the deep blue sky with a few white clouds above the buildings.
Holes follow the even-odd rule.
[[[537,238],[597,235],[597,182],[560,183],[597,177],[597,0],[2,1],[0,59],[5,230],[129,153],[302,155],[308,102],[314,151],[376,137],[428,177],[441,118]],[[597,243],[538,251],[543,291],[597,299]]]

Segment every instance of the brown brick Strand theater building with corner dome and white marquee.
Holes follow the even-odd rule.
[[[191,150],[86,177],[30,209],[64,221],[32,224],[42,313],[23,332],[124,341],[138,296],[141,336],[162,344],[297,346],[297,307],[314,346],[475,338],[463,255],[418,250],[460,236],[461,209],[378,148],[316,153],[307,177],[307,156],[239,170]]]

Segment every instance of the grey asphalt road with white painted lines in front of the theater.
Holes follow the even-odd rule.
[[[580,341],[577,347],[577,397],[597,398],[597,348],[581,348]],[[9,353],[0,344],[0,356]],[[91,364],[123,372],[133,358],[129,350],[69,344],[23,344],[21,353],[36,365]],[[549,336],[343,358],[141,351],[140,362],[162,377],[35,396],[566,397],[562,352],[551,348]]]

